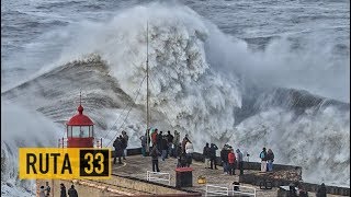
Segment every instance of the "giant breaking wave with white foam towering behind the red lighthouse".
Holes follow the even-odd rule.
[[[152,126],[189,134],[195,151],[205,142],[231,143],[256,155],[265,146],[275,151],[276,163],[302,165],[305,181],[349,186],[350,105],[272,82],[257,85],[252,77],[258,73],[247,74],[254,67],[246,70],[242,61],[247,57],[257,66],[262,56],[250,54],[245,42],[227,37],[183,5],[152,3],[125,10],[106,23],[80,24],[54,65],[1,93],[11,103],[4,108],[36,111],[27,121],[41,119],[53,128],[33,124],[26,132],[56,147],[52,139],[64,135],[82,90],[97,137],[111,146],[116,134],[126,130],[132,147],[138,147],[146,129],[147,23]],[[225,43],[234,58],[228,47],[220,47]],[[1,134],[10,129],[1,128]],[[21,135],[4,139],[3,144],[11,144],[1,146],[5,177],[16,178],[13,150],[44,146],[34,141]]]

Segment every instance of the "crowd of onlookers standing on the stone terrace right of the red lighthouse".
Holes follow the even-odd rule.
[[[177,130],[174,130],[172,135],[170,130],[163,134],[163,131],[152,128],[147,129],[145,135],[140,136],[139,140],[143,157],[147,157],[147,153],[151,157],[154,172],[160,172],[159,159],[162,161],[166,161],[168,158],[178,159],[177,167],[189,167],[192,164],[194,148],[188,134],[180,140],[180,132]],[[114,164],[116,164],[116,158],[118,158],[118,164],[122,164],[122,158],[125,160],[127,146],[128,136],[126,131],[122,131],[122,135],[113,142],[113,147],[115,148]],[[149,150],[147,150],[147,148],[149,148]],[[214,143],[206,143],[203,148],[205,169],[217,170],[217,150],[218,147]],[[259,157],[261,159],[261,172],[273,171],[273,151],[271,149],[267,151],[265,148],[263,148]],[[231,146],[225,144],[220,150],[219,158],[224,174],[235,175],[236,170],[239,170],[240,175],[244,174],[244,154],[240,149],[235,150]]]

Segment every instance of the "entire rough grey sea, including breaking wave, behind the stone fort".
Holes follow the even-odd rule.
[[[107,146],[121,129],[139,144],[147,23],[152,126],[189,134],[195,151],[270,147],[304,181],[350,186],[350,1],[7,0],[1,19],[10,196],[33,186],[15,178],[15,149],[55,147],[79,90]]]

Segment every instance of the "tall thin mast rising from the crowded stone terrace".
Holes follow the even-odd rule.
[[[146,129],[149,129],[149,25],[146,22]],[[149,131],[147,132],[146,140],[146,152],[149,152]]]

